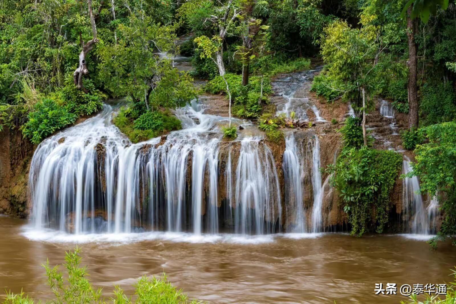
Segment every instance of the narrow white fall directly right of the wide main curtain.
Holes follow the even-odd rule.
[[[285,178],[285,201],[294,206],[287,217],[294,216],[292,232],[306,232],[306,214],[303,206],[302,156],[296,145],[295,135],[291,133],[285,139],[283,170]]]

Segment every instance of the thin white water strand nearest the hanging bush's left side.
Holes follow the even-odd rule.
[[[320,172],[320,142],[315,135],[315,141],[312,147],[312,189],[313,189],[313,209],[312,209],[312,232],[321,232],[322,215],[321,207],[323,205],[324,189],[321,185]]]

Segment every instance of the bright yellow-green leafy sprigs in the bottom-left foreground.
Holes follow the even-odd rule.
[[[114,290],[114,298],[109,302],[101,297],[102,289],[93,289],[88,280],[87,266],[80,267],[81,256],[78,247],[74,251],[65,252],[65,263],[63,266],[67,269],[67,275],[58,271],[59,266],[51,268],[49,260],[43,267],[46,269],[47,281],[54,294],[53,303],[115,303],[115,304],[133,304],[133,303],[155,303],[155,304],[197,304],[196,300],[189,301],[186,294],[180,289],[176,289],[166,280],[166,275],[161,278],[147,278],[142,276],[135,283],[135,298],[124,294],[124,291],[118,286]],[[66,278],[66,279],[65,279]],[[33,304],[34,300],[23,292],[20,294],[6,294],[5,304]],[[39,302],[41,303],[41,302]]]

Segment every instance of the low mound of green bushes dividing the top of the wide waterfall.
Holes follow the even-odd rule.
[[[145,141],[181,129],[181,121],[169,112],[146,111],[138,115],[132,107],[122,108],[113,123],[133,142]]]

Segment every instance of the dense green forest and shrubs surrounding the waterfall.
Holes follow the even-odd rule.
[[[352,233],[365,232],[372,208],[383,231],[401,162],[370,148],[365,118],[381,96],[408,114],[408,175],[443,202],[443,239],[456,234],[455,32],[453,0],[3,0],[0,126],[39,144],[125,98],[113,121],[136,143],[180,129],[172,110],[207,91],[226,94],[230,118],[252,119],[280,142],[294,121],[266,110],[271,77],[322,61],[311,90],[355,112],[325,168]],[[170,54],[190,56],[193,70],[177,71]],[[195,87],[196,78],[208,82]],[[237,136],[231,120],[223,132]]]

